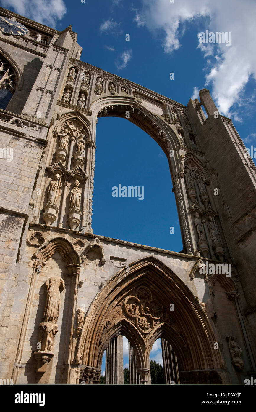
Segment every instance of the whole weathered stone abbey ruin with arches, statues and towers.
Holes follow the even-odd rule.
[[[183,105],[80,61],[71,26],[0,15],[28,29],[0,32],[0,378],[98,384],[106,350],[106,383],[122,384],[126,336],[130,383],[150,384],[161,338],[166,383],[244,384],[256,168],[231,119],[207,89]],[[182,253],[93,233],[101,116],[128,117],[164,151]]]

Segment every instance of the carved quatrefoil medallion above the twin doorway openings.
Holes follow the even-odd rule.
[[[133,319],[141,333],[147,334],[159,323],[164,309],[152,298],[150,290],[144,286],[136,289],[135,296],[128,296],[123,304],[125,314]]]

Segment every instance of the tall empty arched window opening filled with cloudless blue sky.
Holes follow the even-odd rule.
[[[170,167],[161,147],[120,117],[98,119],[96,145],[94,233],[180,252]]]

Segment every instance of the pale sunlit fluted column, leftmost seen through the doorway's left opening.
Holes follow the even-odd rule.
[[[109,342],[106,349],[106,384],[123,383],[123,337],[119,335]]]

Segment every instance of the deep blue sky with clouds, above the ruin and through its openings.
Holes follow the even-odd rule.
[[[219,112],[233,119],[246,147],[256,146],[255,0],[0,0],[0,4],[58,30],[71,24],[83,47],[82,61],[184,105],[198,98],[200,89],[210,89]],[[198,33],[205,30],[230,32],[231,46],[199,43]],[[96,145],[94,233],[182,250],[168,162],[157,143],[128,120],[107,117],[97,124]],[[112,187],[118,184],[143,186],[144,200],[112,197]],[[157,342],[153,349],[151,358],[161,361]]]

